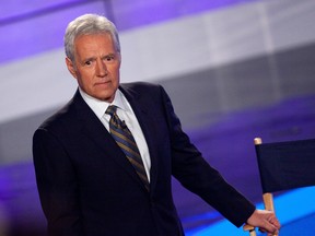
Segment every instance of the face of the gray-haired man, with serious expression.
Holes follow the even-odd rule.
[[[74,40],[74,61],[66,63],[82,91],[112,103],[119,86],[120,54],[109,34],[81,35]]]

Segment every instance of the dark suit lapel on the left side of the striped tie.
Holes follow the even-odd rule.
[[[126,158],[124,152],[116,144],[110,133],[98,120],[93,110],[83,101],[79,92],[74,95],[74,104],[78,114],[80,114],[78,119],[82,127],[81,132],[89,139],[93,140],[101,152],[104,152],[104,158],[113,158],[118,166],[124,168],[131,178],[138,181],[143,189],[145,189],[132,165]]]

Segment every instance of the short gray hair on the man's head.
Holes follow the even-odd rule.
[[[66,56],[74,62],[74,40],[81,35],[109,34],[114,40],[116,51],[120,52],[118,32],[113,22],[102,15],[84,14],[68,24],[65,34]]]

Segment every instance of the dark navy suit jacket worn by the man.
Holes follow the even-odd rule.
[[[255,206],[228,185],[190,143],[160,85],[121,84],[145,137],[150,192],[77,91],[33,140],[37,187],[49,236],[184,235],[173,175],[236,226]]]

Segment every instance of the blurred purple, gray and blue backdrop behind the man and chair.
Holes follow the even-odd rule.
[[[261,190],[253,139],[315,138],[314,0],[5,1],[0,7],[0,236],[46,235],[32,135],[75,92],[62,39],[67,24],[84,13],[104,14],[120,32],[121,82],[162,84],[205,158],[257,205]],[[278,209],[281,235],[314,234],[312,194],[314,188],[277,196],[290,205]],[[302,200],[294,205],[296,197]],[[174,199],[187,235],[246,235],[175,179]]]

